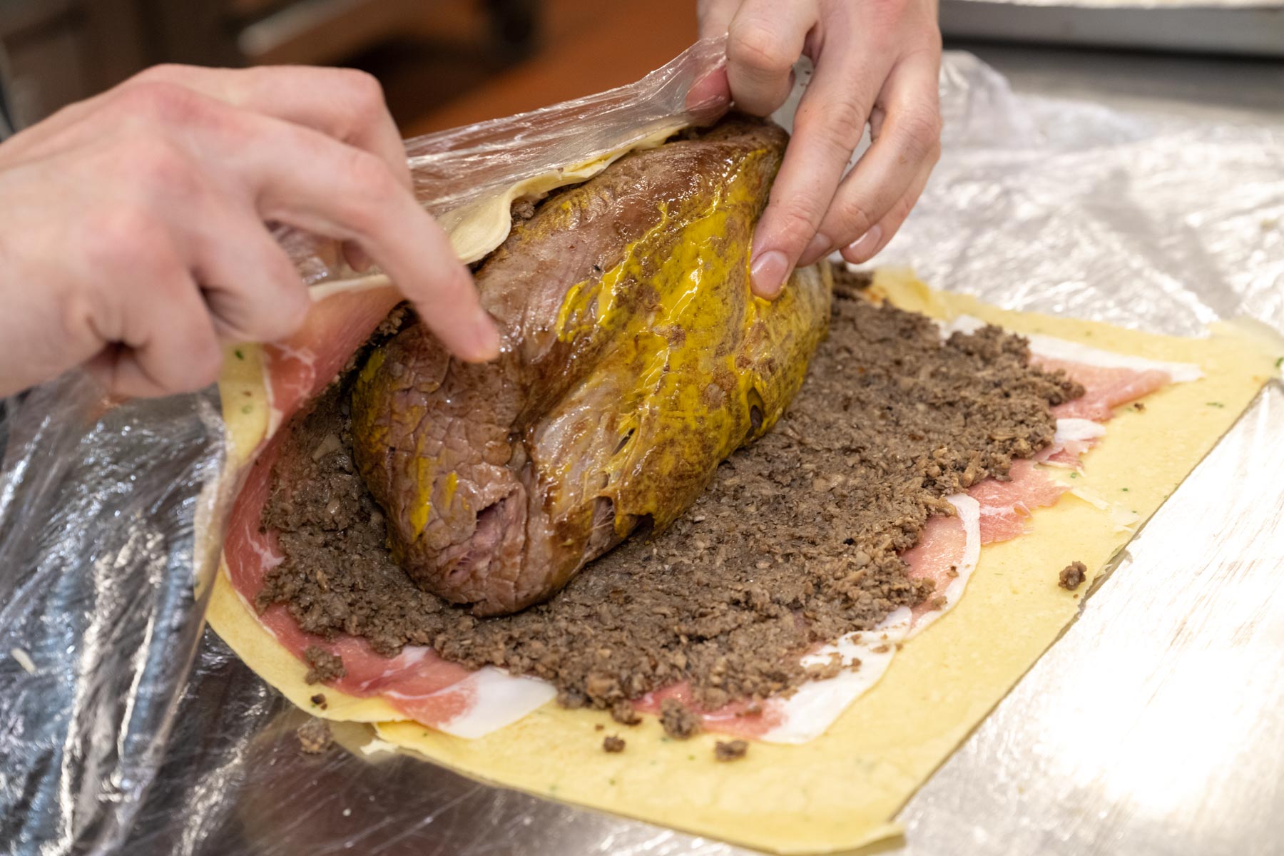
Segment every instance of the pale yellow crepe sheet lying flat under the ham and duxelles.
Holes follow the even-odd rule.
[[[1081,595],[1057,585],[1058,571],[1082,561],[1091,583],[1108,566],[1253,399],[1279,345],[1229,325],[1189,340],[1005,312],[932,291],[908,273],[880,272],[873,293],[937,318],[971,314],[1016,332],[1197,363],[1204,377],[1148,397],[1144,412],[1124,408],[1073,483],[1106,498],[1107,508],[1066,495],[1034,513],[1027,535],[985,547],[959,604],[908,642],[882,680],[810,743],[754,744],[746,758],[720,764],[716,737],[670,740],[651,717],[624,733],[625,752],[607,755],[594,725],[619,726],[556,705],[473,740],[389,721],[385,703],[330,690],[329,708],[312,712],[376,721],[384,740],[489,783],[761,850],[831,852],[895,834],[900,806],[1080,610]],[[235,434],[239,413],[226,416]],[[1120,525],[1134,515],[1131,527]],[[250,667],[311,707],[316,688],[303,683],[306,669],[258,625],[225,575],[211,622]]]

